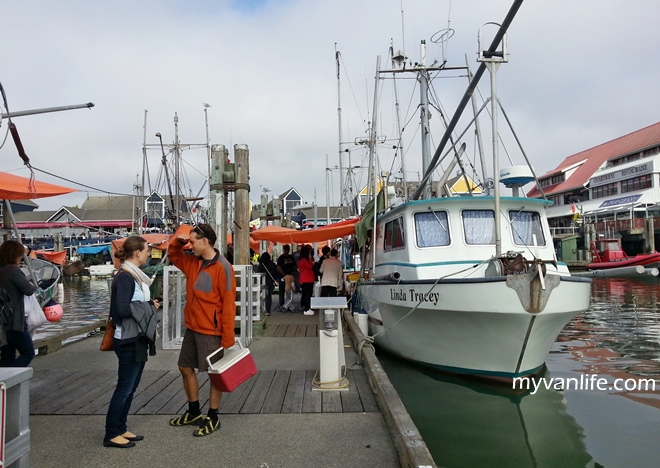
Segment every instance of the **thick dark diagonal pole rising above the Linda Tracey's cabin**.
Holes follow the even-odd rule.
[[[504,21],[502,21],[502,25],[500,26],[500,29],[497,31],[495,34],[495,37],[493,38],[493,42],[491,43],[490,47],[488,48],[487,53],[494,53],[497,51],[497,48],[500,45],[500,42],[502,41],[502,38],[504,37],[504,34],[506,33],[507,29],[511,25],[511,22],[513,21],[513,18],[516,16],[516,13],[518,13],[518,10],[520,9],[521,5],[523,3],[523,0],[515,0],[513,2],[513,5],[511,5],[511,8],[509,9],[509,12],[507,13],[506,17],[504,18]],[[458,124],[459,119],[461,118],[461,115],[463,113],[463,110],[465,110],[465,107],[467,106],[468,102],[470,101],[470,98],[472,94],[474,93],[474,90],[477,87],[477,84],[479,84],[479,80],[483,76],[484,72],[486,71],[486,65],[482,62],[479,65],[479,68],[474,74],[474,78],[472,78],[472,81],[470,81],[470,84],[468,85],[467,90],[465,91],[465,94],[463,94],[463,98],[458,104],[458,107],[456,108],[456,111],[454,112],[454,116],[452,117],[451,121],[449,122],[449,125],[447,126],[447,129],[445,130],[444,135],[442,135],[442,139],[440,140],[440,143],[438,144],[438,147],[435,150],[435,154],[433,155],[433,158],[431,159],[431,162],[428,167],[424,168],[424,177],[419,183],[419,186],[415,190],[415,192],[412,194],[412,199],[413,200],[418,200],[419,197],[424,193],[424,187],[428,183],[431,174],[435,170],[436,165],[438,164],[438,161],[440,159],[440,156],[442,155],[442,151],[445,148],[445,145],[449,141],[449,137],[451,136],[451,133],[454,131],[454,128],[456,128],[456,125]]]

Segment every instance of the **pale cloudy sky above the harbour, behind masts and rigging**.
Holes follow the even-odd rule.
[[[427,63],[446,59],[448,65],[465,65],[467,57],[474,71],[480,28],[489,44],[494,30],[484,25],[501,22],[511,3],[4,0],[0,83],[14,112],[95,104],[91,110],[13,119],[32,166],[68,181],[43,172],[36,178],[81,190],[39,199],[40,209],[80,205],[88,195],[132,193],[142,180],[145,135],[152,145],[145,186],[164,193],[155,134],[172,144],[175,114],[179,141],[197,145],[184,147],[181,156],[187,194],[204,196],[208,190],[203,185],[206,117],[210,144],[225,145],[232,160],[235,144],[248,145],[253,201],[262,192],[280,194],[295,187],[307,203],[316,196],[320,206],[328,198],[337,204],[338,106],[347,143],[342,149],[349,150],[342,165],[350,154],[351,165],[364,167],[367,152],[354,142],[367,136],[373,120],[377,56],[382,56],[381,68],[388,68],[392,45],[414,63],[420,41],[426,40]],[[497,90],[537,173],[660,120],[658,17],[660,4],[653,0],[522,4],[509,28],[509,61],[499,68]],[[431,39],[448,27],[453,34],[443,56]],[[339,86],[335,50],[341,54]],[[486,73],[479,84],[485,97],[488,80]],[[376,128],[387,139],[378,149],[379,171],[400,175],[390,143],[397,135],[392,80],[379,86]],[[434,81],[443,112],[431,111],[432,149],[442,135],[443,115],[451,118],[466,87],[465,77]],[[406,177],[417,180],[419,88],[413,75],[397,79],[397,92]],[[204,103],[210,105],[206,113]],[[482,122],[486,146],[489,125]],[[500,117],[513,162],[521,164],[503,126]],[[7,128],[3,119],[0,138]],[[475,160],[473,150],[468,155]],[[0,171],[29,175],[11,137],[0,148]],[[356,185],[364,184],[366,170],[355,172]]]

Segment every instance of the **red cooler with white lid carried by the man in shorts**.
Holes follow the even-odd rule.
[[[206,363],[209,365],[207,372],[215,388],[223,392],[232,392],[257,373],[257,366],[254,364],[250,350],[243,348],[238,340],[234,346],[225,349],[225,354],[219,361],[211,364],[211,358],[223,349],[213,351],[206,357]]]

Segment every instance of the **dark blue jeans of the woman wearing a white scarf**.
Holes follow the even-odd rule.
[[[119,345],[120,340],[114,340],[115,354],[119,359],[117,372],[117,387],[112,394],[108,414],[105,418],[105,440],[114,439],[125,433],[128,428],[128,411],[131,409],[133,395],[142,377],[145,362],[135,362],[135,345]]]

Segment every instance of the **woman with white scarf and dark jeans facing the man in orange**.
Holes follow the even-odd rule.
[[[103,445],[114,448],[135,447],[135,442],[144,439],[128,431],[128,412],[131,409],[133,395],[140,384],[142,371],[147,362],[149,344],[141,339],[126,336],[128,321],[133,320],[131,302],[151,301],[149,278],[140,267],[147,263],[151,248],[140,236],[127,237],[123,245],[115,252],[121,262],[119,272],[112,281],[110,291],[110,315],[114,322],[115,336],[113,347],[119,367],[117,386],[110,399],[108,414],[105,417],[105,437]],[[158,301],[153,301],[156,308]]]

